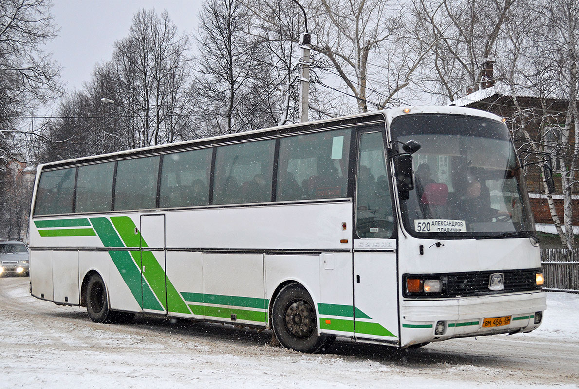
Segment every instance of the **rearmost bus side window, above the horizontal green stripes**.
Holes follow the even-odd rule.
[[[72,213],[75,176],[76,168],[42,172],[34,214]]]

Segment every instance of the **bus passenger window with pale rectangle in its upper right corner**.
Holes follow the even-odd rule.
[[[350,134],[339,129],[282,138],[276,200],[346,197]]]

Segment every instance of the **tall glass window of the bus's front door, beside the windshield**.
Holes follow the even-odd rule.
[[[362,134],[356,177],[356,231],[360,238],[390,238],[394,232],[387,177],[382,132]]]

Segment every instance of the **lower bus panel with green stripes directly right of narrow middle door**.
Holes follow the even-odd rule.
[[[173,316],[203,318],[203,260],[201,253],[191,251],[167,251],[166,253],[167,280],[173,283],[181,294],[186,305],[192,310],[190,313],[175,312],[175,305],[170,299],[167,301],[167,310]]]

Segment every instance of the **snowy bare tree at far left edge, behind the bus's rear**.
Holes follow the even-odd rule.
[[[25,161],[20,121],[39,103],[60,94],[60,68],[43,52],[55,28],[48,0],[0,0],[0,235],[23,238],[21,220],[14,210],[24,212],[30,202],[19,189],[19,177],[10,168]],[[10,236],[9,236],[10,235]]]

